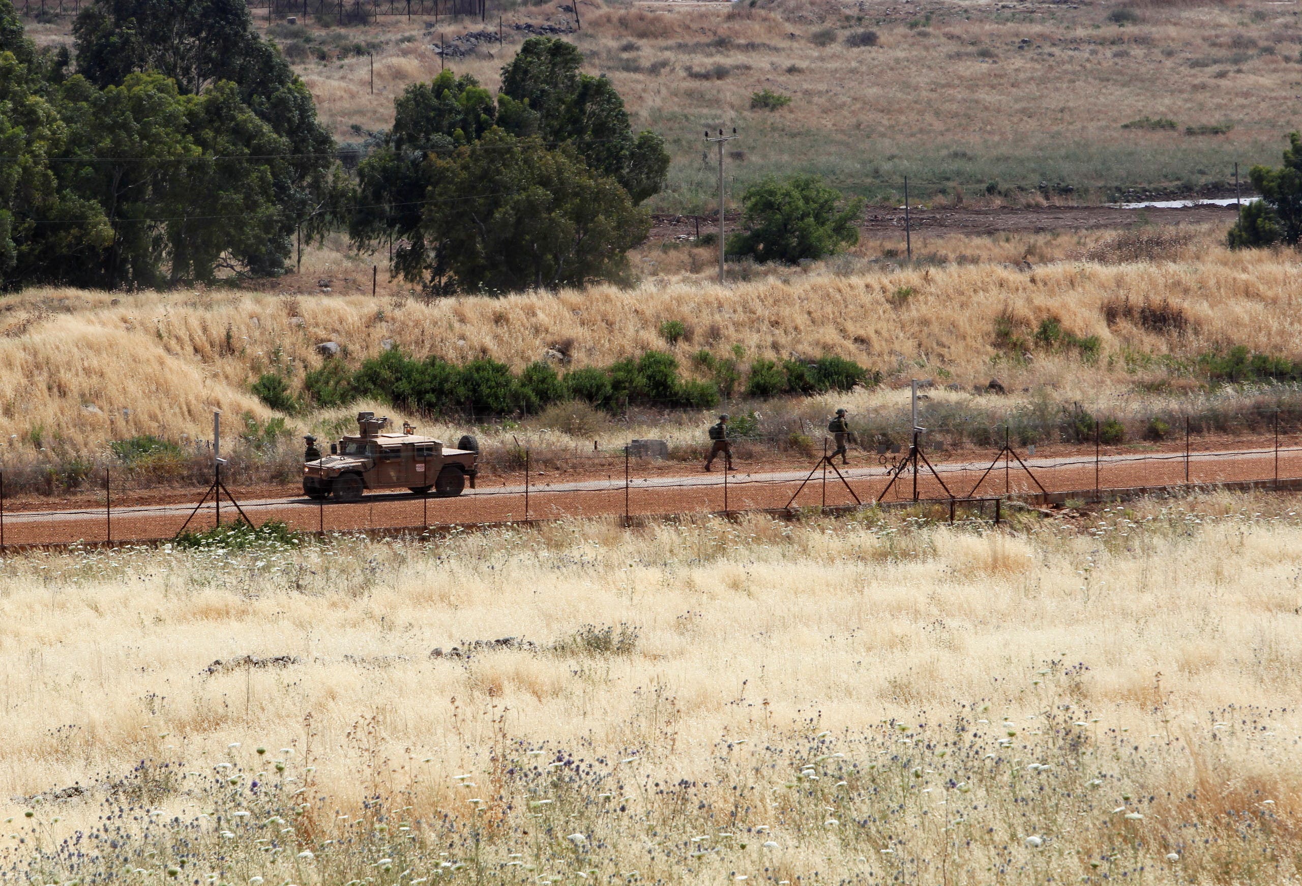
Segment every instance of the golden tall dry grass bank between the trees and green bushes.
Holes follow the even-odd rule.
[[[519,369],[568,340],[574,366],[605,365],[664,348],[659,328],[667,319],[691,327],[674,348],[685,367],[700,348],[724,353],[740,345],[745,360],[831,353],[883,371],[888,383],[915,375],[966,387],[993,373],[1010,390],[1053,386],[1083,403],[1163,375],[1163,356],[1243,344],[1302,357],[1292,254],[1229,253],[1212,236],[1195,244],[1195,257],[1174,262],[1057,261],[1027,272],[999,262],[901,270],[849,257],[725,288],[677,275],[648,278],[633,289],[432,302],[392,289],[378,300],[229,289],[117,296],[31,289],[7,301],[0,436],[16,435],[9,444],[20,450],[38,438],[47,447],[94,450],[134,434],[206,436],[214,407],[268,417],[249,384],[276,367],[301,380],[306,367],[320,362],[315,345],[327,340],[340,343],[354,366],[396,345],[456,362],[492,357]],[[986,248],[950,242],[960,251]],[[1088,242],[1042,238],[1036,249],[1077,254]],[[1000,255],[1010,245],[1023,254],[1034,246],[1009,238],[988,248]],[[660,261],[678,253],[648,254]],[[312,261],[354,274],[337,255]],[[363,278],[353,279],[358,283],[349,288],[336,276],[336,287],[357,292]],[[911,294],[901,297],[901,291]],[[1105,305],[1125,298],[1168,302],[1185,313],[1189,326],[1184,334],[1146,330],[1129,319],[1108,326]],[[992,364],[1000,356],[1000,315],[1026,337],[1055,317],[1069,332],[1098,335],[1101,357],[1087,365],[1070,353],[1039,353],[1029,364]]]

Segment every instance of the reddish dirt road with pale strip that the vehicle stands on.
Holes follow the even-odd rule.
[[[917,477],[919,499],[1000,496],[1034,494],[1040,487],[1048,493],[1092,493],[1095,489],[1134,489],[1181,483],[1216,485],[1224,482],[1272,481],[1302,478],[1302,439],[1281,440],[1276,448],[1260,439],[1251,446],[1217,448],[1194,447],[1187,455],[1184,444],[1154,447],[1147,452],[1100,453],[1095,460],[1092,447],[1059,453],[1042,450],[1031,455],[1018,451],[1017,457],[992,453],[931,452],[934,476],[922,464]],[[358,503],[318,503],[306,496],[262,498],[243,500],[233,490],[240,509],[221,503],[221,520],[229,522],[241,513],[254,524],[280,520],[290,528],[309,532],[353,532],[366,529],[411,528],[427,525],[473,525],[547,520],[560,517],[686,515],[762,508],[816,508],[819,506],[863,504],[876,500],[891,483],[891,464],[904,453],[878,456],[854,451],[849,466],[825,468],[818,459],[776,464],[766,460],[763,469],[747,470],[738,460],[737,470],[725,474],[716,463],[704,473],[685,463],[651,463],[639,459],[608,459],[600,470],[589,469],[575,479],[557,481],[555,473],[531,477],[480,476],[479,487],[458,498],[423,498],[411,494],[368,493]],[[948,461],[941,460],[947,456]],[[885,463],[883,465],[881,463]],[[625,466],[628,465],[628,482]],[[838,472],[840,470],[840,476]],[[594,476],[594,474],[600,476]],[[844,479],[842,479],[844,478]],[[539,482],[542,479],[543,482]],[[519,481],[519,482],[517,482]],[[980,485],[978,486],[978,481]],[[853,494],[852,494],[853,490]],[[189,520],[191,530],[211,528],[217,519],[211,499],[195,511],[202,491],[189,502],[177,494],[164,504],[113,507],[83,506],[66,509],[7,509],[4,513],[5,545],[69,543],[164,539],[176,534]],[[794,498],[793,498],[794,496]],[[884,502],[914,498],[913,472],[906,470],[887,491]]]

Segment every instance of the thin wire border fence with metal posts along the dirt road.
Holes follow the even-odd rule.
[[[1273,418],[1273,421],[1272,421]],[[203,532],[243,520],[280,521],[327,536],[370,532],[419,534],[565,517],[616,517],[625,524],[690,515],[768,512],[796,516],[918,504],[935,519],[992,520],[1006,502],[1083,506],[1146,493],[1197,487],[1302,490],[1302,427],[1284,433],[1279,412],[1251,435],[1194,434],[1189,425],[1163,439],[1109,442],[1105,423],[1074,440],[1019,444],[1010,429],[1000,446],[947,446],[919,429],[902,442],[852,444],[833,457],[833,440],[736,439],[733,470],[720,456],[702,470],[700,447],[668,450],[630,440],[617,450],[519,447],[496,453],[478,489],[457,498],[376,491],[359,502],[306,496],[258,498],[227,490],[220,477],[195,487],[189,503],[174,487],[104,469],[77,507],[26,495],[7,499],[0,472],[0,551],[73,543],[164,542],[182,529]],[[1090,433],[1092,431],[1092,433]],[[1092,438],[1092,439],[1091,439]],[[216,495],[214,495],[216,491]],[[169,503],[158,503],[167,495]]]

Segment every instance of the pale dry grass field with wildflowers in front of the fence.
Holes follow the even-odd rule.
[[[9,558],[0,865],[1295,882],[1295,504]]]

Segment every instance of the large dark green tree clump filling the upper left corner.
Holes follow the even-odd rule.
[[[39,53],[0,0],[0,288],[276,274],[346,189],[311,95],[237,0],[96,0]]]

